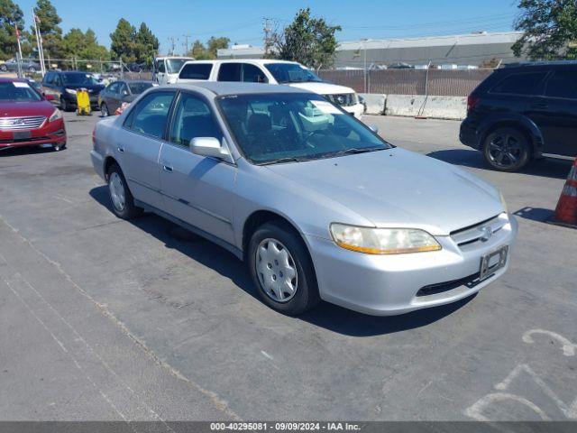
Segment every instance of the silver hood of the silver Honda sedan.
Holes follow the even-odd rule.
[[[499,190],[488,182],[398,148],[267,169],[339,202],[374,226],[449,235],[504,211]]]

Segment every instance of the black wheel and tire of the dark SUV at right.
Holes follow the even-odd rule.
[[[483,143],[483,156],[491,168],[513,172],[531,161],[527,136],[516,128],[503,127],[492,131]]]

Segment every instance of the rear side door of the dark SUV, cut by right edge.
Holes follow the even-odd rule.
[[[533,119],[544,138],[545,154],[577,156],[577,69],[554,70],[545,95],[536,98]]]

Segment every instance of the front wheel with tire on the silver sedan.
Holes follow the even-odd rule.
[[[298,316],[319,302],[316,274],[307,245],[292,227],[281,222],[265,223],[252,234],[247,253],[252,282],[271,309]],[[285,285],[273,281],[284,281]]]

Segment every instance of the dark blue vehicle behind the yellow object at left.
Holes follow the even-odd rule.
[[[64,111],[72,111],[77,107],[76,91],[86,88],[90,97],[90,106],[98,108],[98,94],[105,86],[88,73],[76,70],[49,70],[42,79],[42,94],[53,104]]]

